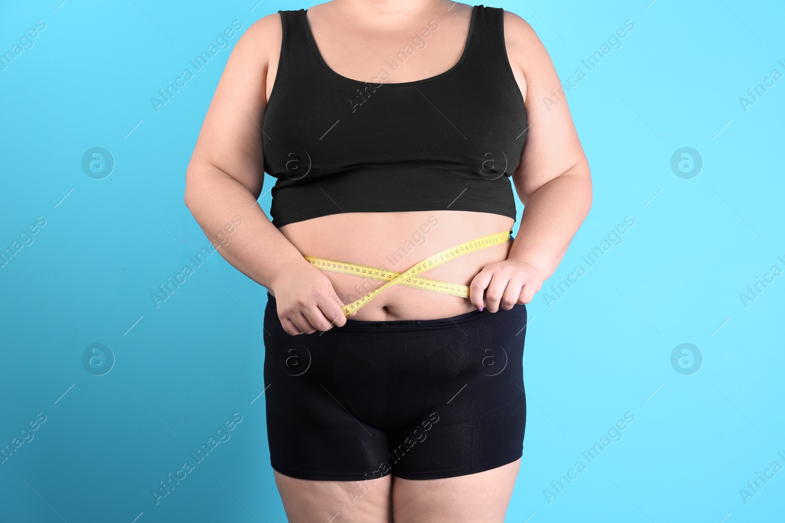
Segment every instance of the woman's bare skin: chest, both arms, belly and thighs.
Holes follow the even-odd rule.
[[[471,5],[440,0],[333,0],[310,7],[307,16],[327,65],[368,82],[387,56],[436,20],[439,29],[425,49],[411,55],[387,81],[395,83],[451,68],[462,54],[470,14]],[[513,220],[466,211],[344,212],[273,226],[257,198],[264,179],[261,123],[281,47],[279,14],[261,18],[239,38],[188,165],[185,204],[221,255],[276,297],[279,318],[290,335],[340,329],[353,319],[446,318],[475,307],[492,313],[509,310],[531,302],[556,270],[589,212],[590,169],[542,42],[514,13],[504,13],[504,26],[507,55],[530,123],[512,176],[525,206],[517,237],[423,274],[469,285],[470,300],[396,285],[350,318],[340,307],[383,283],[319,271],[304,254],[403,272],[452,245],[510,229]],[[561,101],[549,110],[546,96]],[[234,216],[243,224],[227,241],[225,226]],[[438,223],[422,235],[425,242],[397,265],[389,263],[388,256],[433,220]],[[392,514],[397,523],[504,521],[519,466],[520,460],[479,474],[425,481],[392,475],[364,482],[308,481],[277,472],[275,477],[289,521],[382,522],[393,521]]]

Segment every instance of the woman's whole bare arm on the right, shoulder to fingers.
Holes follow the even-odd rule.
[[[491,312],[531,301],[556,271],[592,202],[589,162],[553,62],[520,16],[506,11],[504,26],[507,56],[523,91],[529,127],[512,176],[524,204],[518,235],[507,259],[488,263],[469,290],[472,303]]]

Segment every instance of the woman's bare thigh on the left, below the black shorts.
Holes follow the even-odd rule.
[[[392,475],[313,481],[273,470],[289,523],[392,523]]]

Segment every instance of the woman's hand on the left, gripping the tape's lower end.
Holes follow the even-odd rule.
[[[270,282],[270,289],[283,330],[292,336],[346,323],[342,310],[345,303],[335,294],[332,281],[311,263],[280,271]]]

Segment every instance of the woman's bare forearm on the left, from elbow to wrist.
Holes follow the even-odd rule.
[[[221,256],[238,271],[270,289],[279,271],[308,263],[242,183],[205,162],[188,169],[199,171],[189,176],[195,181],[186,187],[186,205]]]

